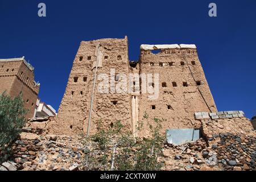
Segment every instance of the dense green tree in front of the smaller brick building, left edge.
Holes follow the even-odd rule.
[[[22,94],[12,99],[5,92],[0,94],[0,162],[7,160],[11,144],[18,138],[26,123]]]

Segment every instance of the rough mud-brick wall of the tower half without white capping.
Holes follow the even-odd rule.
[[[81,134],[86,133],[89,121],[90,101],[93,90],[95,65],[100,44],[99,67],[97,78],[105,73],[110,79],[110,69],[117,73],[129,73],[128,45],[125,39],[100,39],[81,42],[77,51],[73,67],[69,75],[67,88],[59,107],[56,122],[49,127],[49,133]],[[75,77],[77,82],[75,82]],[[131,128],[131,100],[129,94],[99,93],[96,81],[94,89],[92,122],[90,133],[96,131],[96,123],[101,120],[104,127],[116,120],[120,120],[126,129]],[[114,81],[115,82],[115,81]],[[110,91],[110,90],[109,90]],[[117,103],[113,103],[117,101]]]

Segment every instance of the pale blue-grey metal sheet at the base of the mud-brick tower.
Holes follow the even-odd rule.
[[[200,138],[199,129],[168,129],[166,130],[167,143],[180,145]]]

